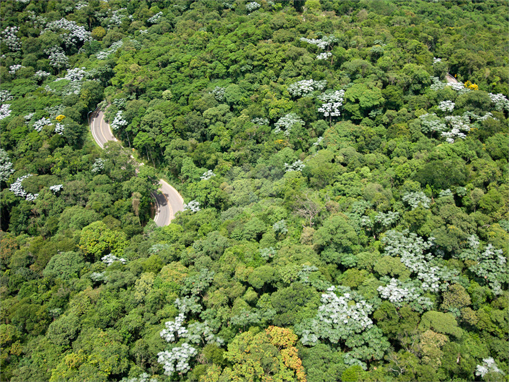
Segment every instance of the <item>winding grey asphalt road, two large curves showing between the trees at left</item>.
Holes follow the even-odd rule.
[[[96,110],[92,114],[90,122],[90,129],[92,136],[97,144],[104,148],[108,141],[117,141],[109,125],[104,121],[104,113]],[[184,210],[184,199],[180,196],[175,188],[166,183],[164,180],[159,180],[158,193],[151,193],[156,201],[156,215],[154,222],[159,226],[167,226],[175,217],[174,213]]]

